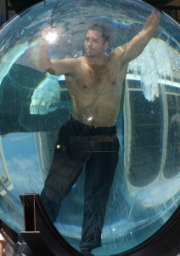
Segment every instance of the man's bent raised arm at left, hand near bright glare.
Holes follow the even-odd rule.
[[[42,41],[40,44],[39,56],[38,56],[38,67],[42,71],[48,71],[54,75],[61,75],[67,73],[73,73],[76,65],[76,60],[69,58],[63,60],[52,60],[49,56],[49,42],[48,33],[51,32],[52,28],[45,28],[42,32]]]

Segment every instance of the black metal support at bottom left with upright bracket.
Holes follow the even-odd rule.
[[[25,231],[20,234],[36,256],[82,255],[56,230],[38,194],[20,195],[20,200],[25,212]]]

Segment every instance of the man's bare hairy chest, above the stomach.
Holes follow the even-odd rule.
[[[66,80],[70,96],[81,102],[93,102],[94,98],[105,102],[121,97],[121,85],[126,74],[126,68],[115,63],[104,65],[82,64],[77,67],[74,77]]]

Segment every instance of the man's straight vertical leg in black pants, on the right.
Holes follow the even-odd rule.
[[[107,147],[106,147],[107,146]],[[104,147],[104,146],[103,146]],[[87,161],[85,205],[80,247],[89,252],[101,246],[106,206],[118,162],[119,142],[107,143],[104,152],[95,152]]]

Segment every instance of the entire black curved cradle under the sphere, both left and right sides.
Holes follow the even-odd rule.
[[[38,256],[80,256],[82,253],[65,241],[48,218],[38,194],[20,195],[25,211],[25,231],[21,232],[31,251]],[[156,234],[138,247],[120,255],[177,256],[180,250],[180,207]]]

